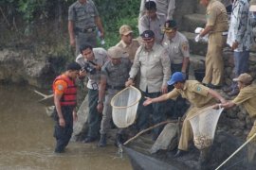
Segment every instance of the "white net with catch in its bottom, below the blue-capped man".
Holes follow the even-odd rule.
[[[213,143],[214,133],[222,109],[212,107],[198,111],[189,120],[192,125],[193,143],[198,149],[209,147]]]

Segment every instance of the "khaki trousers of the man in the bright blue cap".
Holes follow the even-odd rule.
[[[207,108],[209,106],[214,105],[215,102],[210,102],[210,104],[205,105],[204,107],[201,108],[197,108],[192,106],[186,115],[185,120],[183,121],[183,125],[181,128],[181,135],[180,135],[180,139],[179,139],[179,144],[178,144],[178,149],[179,150],[185,150],[188,151],[189,149],[189,144],[192,141],[192,126],[191,123],[189,121],[189,118],[192,117],[197,111],[202,110],[204,108]]]

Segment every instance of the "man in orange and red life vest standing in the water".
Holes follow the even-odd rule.
[[[53,81],[54,93],[54,137],[56,138],[55,153],[64,152],[73,132],[73,120],[77,120],[77,87],[75,79],[80,75],[81,66],[77,62],[67,65],[63,75]]]

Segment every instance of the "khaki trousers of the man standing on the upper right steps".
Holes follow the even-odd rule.
[[[224,61],[222,57],[223,45],[226,38],[221,32],[212,33],[209,36],[208,51],[206,56],[206,75],[203,83],[212,85],[221,85]]]

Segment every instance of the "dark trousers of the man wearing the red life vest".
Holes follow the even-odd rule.
[[[64,147],[69,143],[73,132],[73,110],[74,107],[62,107],[65,127],[60,126],[57,110],[54,110],[54,120],[56,121],[54,127],[54,137],[56,138],[56,152],[64,151]]]

